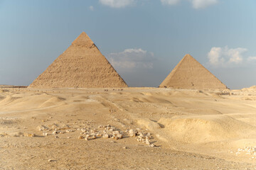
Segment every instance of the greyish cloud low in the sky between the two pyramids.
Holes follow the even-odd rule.
[[[153,68],[154,60],[156,60],[153,52],[147,52],[141,48],[131,48],[123,52],[110,53],[107,57],[115,68],[122,69],[151,69]]]

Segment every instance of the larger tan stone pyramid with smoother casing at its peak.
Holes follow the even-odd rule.
[[[127,87],[89,36],[82,32],[33,83],[33,88]]]

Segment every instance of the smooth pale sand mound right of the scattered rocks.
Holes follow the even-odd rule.
[[[206,143],[256,137],[256,127],[230,118],[228,115],[189,115],[161,118],[158,123],[180,142]]]

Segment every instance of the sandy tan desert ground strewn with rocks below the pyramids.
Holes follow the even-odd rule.
[[[2,87],[0,169],[256,169],[254,87],[107,90]]]

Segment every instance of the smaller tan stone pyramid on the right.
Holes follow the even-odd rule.
[[[159,87],[175,89],[227,89],[191,55],[185,55]]]

